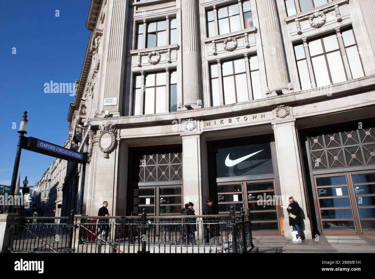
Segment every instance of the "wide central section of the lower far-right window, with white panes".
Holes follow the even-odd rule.
[[[309,42],[317,87],[347,81],[336,34]]]

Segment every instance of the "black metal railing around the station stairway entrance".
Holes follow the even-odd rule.
[[[26,218],[17,218],[25,220]],[[15,224],[12,251],[75,253],[244,253],[249,212],[229,215],[39,217]],[[53,223],[48,223],[47,221]]]

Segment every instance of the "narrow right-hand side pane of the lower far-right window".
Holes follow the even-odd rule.
[[[365,73],[363,72],[362,61],[359,56],[358,46],[356,38],[354,37],[353,29],[343,31],[342,39],[344,40],[345,51],[347,53],[353,79],[364,77]]]

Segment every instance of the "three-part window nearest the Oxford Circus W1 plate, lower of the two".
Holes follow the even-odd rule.
[[[172,70],[167,84],[166,72],[152,72],[144,76],[134,76],[133,82],[133,115],[146,115],[177,111],[177,72]],[[142,91],[142,86],[145,88]],[[169,88],[169,105],[166,88]],[[143,101],[142,101],[143,100]]]

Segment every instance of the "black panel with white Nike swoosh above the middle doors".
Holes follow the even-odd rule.
[[[216,145],[217,178],[273,173],[270,143],[226,143]]]

